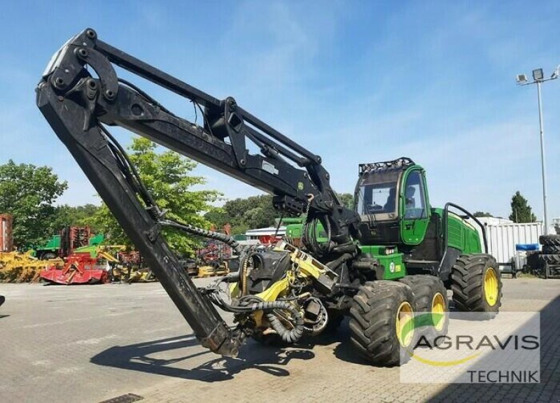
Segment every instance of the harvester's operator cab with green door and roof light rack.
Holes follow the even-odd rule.
[[[362,243],[421,242],[426,229],[423,224],[430,219],[423,169],[406,157],[360,164],[359,169],[354,207],[360,215]]]

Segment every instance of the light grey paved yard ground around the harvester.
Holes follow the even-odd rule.
[[[207,280],[197,280],[202,285]],[[332,336],[210,353],[158,283],[0,284],[0,402],[559,402],[560,281],[504,280],[503,311],[541,312],[540,384],[400,383]],[[226,315],[226,320],[231,316]]]

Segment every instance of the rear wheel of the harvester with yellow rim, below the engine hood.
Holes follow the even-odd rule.
[[[458,311],[498,313],[502,304],[502,279],[490,255],[461,255],[451,268],[451,290]]]

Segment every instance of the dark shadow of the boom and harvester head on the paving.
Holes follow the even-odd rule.
[[[200,342],[190,334],[129,346],[113,346],[94,355],[90,362],[148,374],[215,382],[233,379],[235,374],[244,369],[259,369],[273,376],[289,376],[290,372],[282,366],[287,365],[290,360],[310,360],[315,356],[306,348],[272,348],[248,341],[241,348],[239,358],[211,358],[194,368],[188,368],[189,360],[202,355],[216,357],[214,353],[200,351],[199,348],[196,352],[188,352],[189,348],[198,346]]]

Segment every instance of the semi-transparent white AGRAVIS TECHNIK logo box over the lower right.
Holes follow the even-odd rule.
[[[449,332],[435,332],[449,315]],[[503,312],[423,313],[403,332],[414,342],[401,348],[400,379],[406,383],[540,382],[540,316]],[[401,338],[409,337],[402,334]]]

